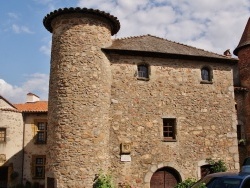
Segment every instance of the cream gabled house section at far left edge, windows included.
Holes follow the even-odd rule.
[[[0,95],[0,187],[21,182],[23,136],[22,113]]]

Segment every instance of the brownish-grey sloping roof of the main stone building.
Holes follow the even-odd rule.
[[[115,39],[113,44],[103,49],[106,52],[113,51],[126,51],[126,52],[146,52],[146,53],[158,53],[169,54],[185,57],[197,57],[197,58],[212,58],[222,59],[226,61],[237,62],[237,59],[229,58],[224,55],[208,52],[202,49],[191,47],[188,45],[169,41],[167,39],[159,38],[152,35],[143,35],[138,37],[129,37],[122,39]]]

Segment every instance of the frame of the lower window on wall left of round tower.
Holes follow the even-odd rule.
[[[37,164],[37,159],[42,159],[42,164]],[[42,175],[37,175],[37,167],[42,168]],[[45,179],[45,168],[46,168],[46,155],[33,155],[32,156],[32,178],[33,179]]]

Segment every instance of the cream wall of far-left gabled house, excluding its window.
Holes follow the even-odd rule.
[[[22,114],[0,98],[0,128],[6,128],[6,142],[0,142],[0,167],[8,166],[8,186],[16,185],[22,178]],[[13,172],[18,176],[12,180]]]

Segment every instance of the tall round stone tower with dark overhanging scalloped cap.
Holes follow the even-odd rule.
[[[116,17],[65,8],[43,24],[52,35],[47,187],[92,187],[109,167],[110,62],[102,48],[118,32]]]

